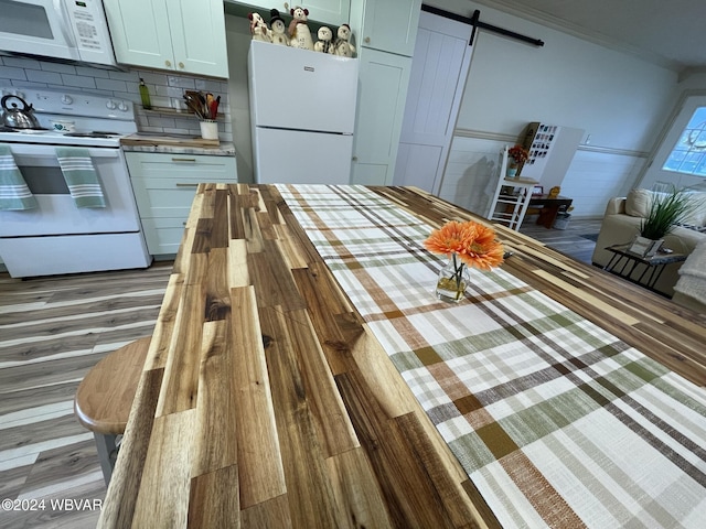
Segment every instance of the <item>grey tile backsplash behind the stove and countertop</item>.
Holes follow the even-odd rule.
[[[139,79],[145,79],[152,107],[164,111],[145,110],[140,100]],[[130,68],[109,71],[85,65],[53,63],[41,58],[0,55],[0,87],[65,88],[72,91],[100,94],[135,102],[138,129],[146,132],[200,136],[199,120],[183,110],[184,90],[203,90],[221,96],[218,138],[233,141],[226,80],[190,75]]]

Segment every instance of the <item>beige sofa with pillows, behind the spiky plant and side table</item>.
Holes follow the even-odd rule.
[[[632,190],[628,196],[614,197],[608,201],[606,214],[601,223],[596,249],[593,250],[593,264],[605,267],[613,253],[606,250],[613,245],[627,245],[631,242],[640,231],[640,224],[646,216],[653,197],[652,191]],[[706,193],[692,193],[689,197],[694,203],[692,213],[684,219],[691,226],[706,227]],[[689,255],[696,245],[706,239],[706,231],[677,226],[664,238],[664,246],[678,253]],[[674,285],[680,279],[681,262],[667,264],[655,283],[655,290],[668,295],[674,295]],[[643,271],[643,266],[635,268],[632,278],[637,279]]]

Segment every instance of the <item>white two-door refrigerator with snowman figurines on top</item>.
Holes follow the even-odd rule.
[[[347,184],[357,60],[252,41],[255,182]]]

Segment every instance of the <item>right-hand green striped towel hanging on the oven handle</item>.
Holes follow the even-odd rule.
[[[88,149],[57,147],[56,158],[76,207],[106,207]]]

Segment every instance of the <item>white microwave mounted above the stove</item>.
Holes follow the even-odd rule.
[[[101,0],[0,0],[0,52],[117,66]]]

